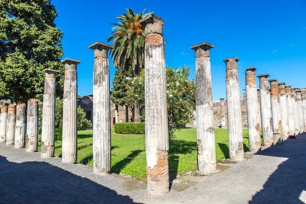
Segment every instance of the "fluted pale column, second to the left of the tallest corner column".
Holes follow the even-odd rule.
[[[79,60],[66,58],[63,95],[62,163],[74,164],[78,160],[78,73]]]

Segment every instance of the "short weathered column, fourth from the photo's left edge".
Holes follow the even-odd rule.
[[[28,101],[26,140],[26,151],[34,152],[38,150],[38,100],[36,99]]]

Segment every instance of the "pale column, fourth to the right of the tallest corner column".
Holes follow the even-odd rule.
[[[269,74],[257,75],[259,78],[260,87],[260,106],[262,113],[262,130],[264,146],[273,144],[273,129],[272,129],[272,111],[271,111],[271,96],[269,89],[268,77]]]

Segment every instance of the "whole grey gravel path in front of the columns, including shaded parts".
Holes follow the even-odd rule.
[[[0,203],[304,203],[306,134],[226,165],[232,168],[215,175],[180,177],[169,194],[151,197],[141,180],[94,175],[92,167],[2,143]]]

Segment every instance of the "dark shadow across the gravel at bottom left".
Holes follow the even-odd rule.
[[[0,172],[0,203],[134,203],[46,162],[13,163],[0,156]]]

